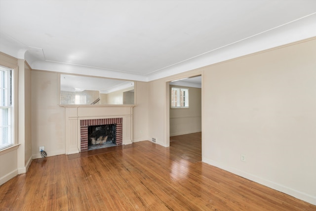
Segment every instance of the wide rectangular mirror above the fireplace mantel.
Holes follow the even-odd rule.
[[[60,105],[134,105],[134,82],[60,74]]]

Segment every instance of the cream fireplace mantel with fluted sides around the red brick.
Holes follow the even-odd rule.
[[[80,121],[122,118],[122,144],[133,141],[133,106],[65,106],[66,155],[80,152]]]

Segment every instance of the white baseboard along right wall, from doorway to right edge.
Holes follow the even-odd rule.
[[[245,171],[242,171],[242,170],[239,170],[239,169],[235,169],[235,168],[232,168],[232,167],[228,167],[228,166],[224,166],[218,162],[215,162],[213,160],[210,160],[210,159],[206,159],[206,158],[202,158],[202,162],[204,163],[207,163],[209,165],[212,165],[212,166],[215,166],[215,167],[218,167],[220,169],[224,169],[224,170],[227,170],[229,172],[232,172],[234,174],[237,174],[239,176],[242,176],[246,179],[250,179],[251,181],[254,181],[254,182],[257,182],[259,184],[262,184],[262,185],[265,185],[269,188],[272,188],[272,189],[275,189],[277,191],[280,191],[282,193],[285,193],[285,194],[288,194],[290,196],[293,196],[297,199],[300,199],[300,200],[303,200],[305,202],[308,202],[312,205],[316,205],[316,196],[312,196],[312,195],[309,195],[309,194],[306,194],[306,193],[303,193],[301,191],[298,191],[298,190],[294,190],[290,187],[286,187],[282,184],[278,184],[276,182],[273,182],[273,181],[270,181],[270,180],[267,180],[265,178],[261,178],[257,175],[253,175],[251,173],[248,173],[248,172],[245,172]]]

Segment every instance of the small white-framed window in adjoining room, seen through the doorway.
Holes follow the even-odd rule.
[[[189,89],[171,87],[171,108],[189,107]]]

